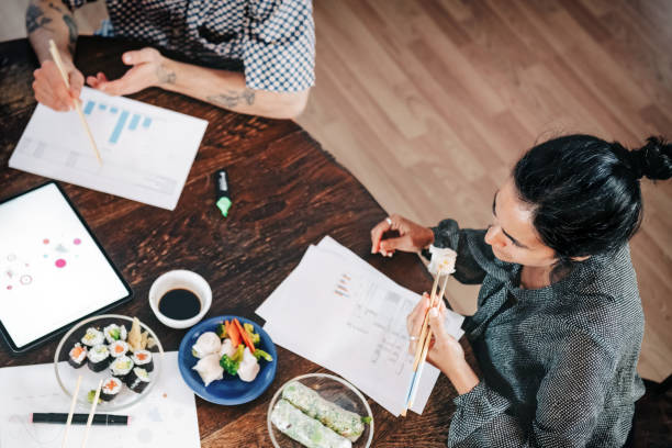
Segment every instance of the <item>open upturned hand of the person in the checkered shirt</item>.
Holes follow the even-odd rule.
[[[121,78],[110,81],[103,72],[89,76],[87,83],[108,94],[130,94],[148,87],[175,83],[176,74],[169,68],[170,60],[154,48],[126,52],[122,56],[125,65],[133,66]]]

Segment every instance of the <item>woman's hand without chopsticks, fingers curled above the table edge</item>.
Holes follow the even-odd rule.
[[[399,232],[399,237],[383,239],[388,231]],[[434,243],[434,232],[397,214],[390,215],[371,229],[371,254],[391,257],[394,250],[418,251]]]

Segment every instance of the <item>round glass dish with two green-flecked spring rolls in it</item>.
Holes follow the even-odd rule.
[[[276,448],[368,448],[373,414],[346,380],[309,373],[284,383],[268,407],[268,434]]]

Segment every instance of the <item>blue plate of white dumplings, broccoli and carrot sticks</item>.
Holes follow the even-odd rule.
[[[260,325],[217,316],[193,326],[178,350],[189,388],[211,403],[236,405],[261,395],[276,378],[277,352]]]

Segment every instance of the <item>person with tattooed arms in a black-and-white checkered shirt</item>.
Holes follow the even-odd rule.
[[[26,10],[29,38],[41,64],[33,90],[38,102],[54,110],[72,109],[85,80],[109,94],[159,87],[234,112],[277,119],[295,117],[305,108],[315,60],[310,0],[107,0],[111,26],[105,35],[148,44],[123,54],[128,70],[114,80],[103,72],[85,79],[75,67],[72,10],[87,1],[30,0]],[[49,40],[61,54],[69,89],[52,60]],[[168,58],[161,53],[166,51],[188,61]]]

